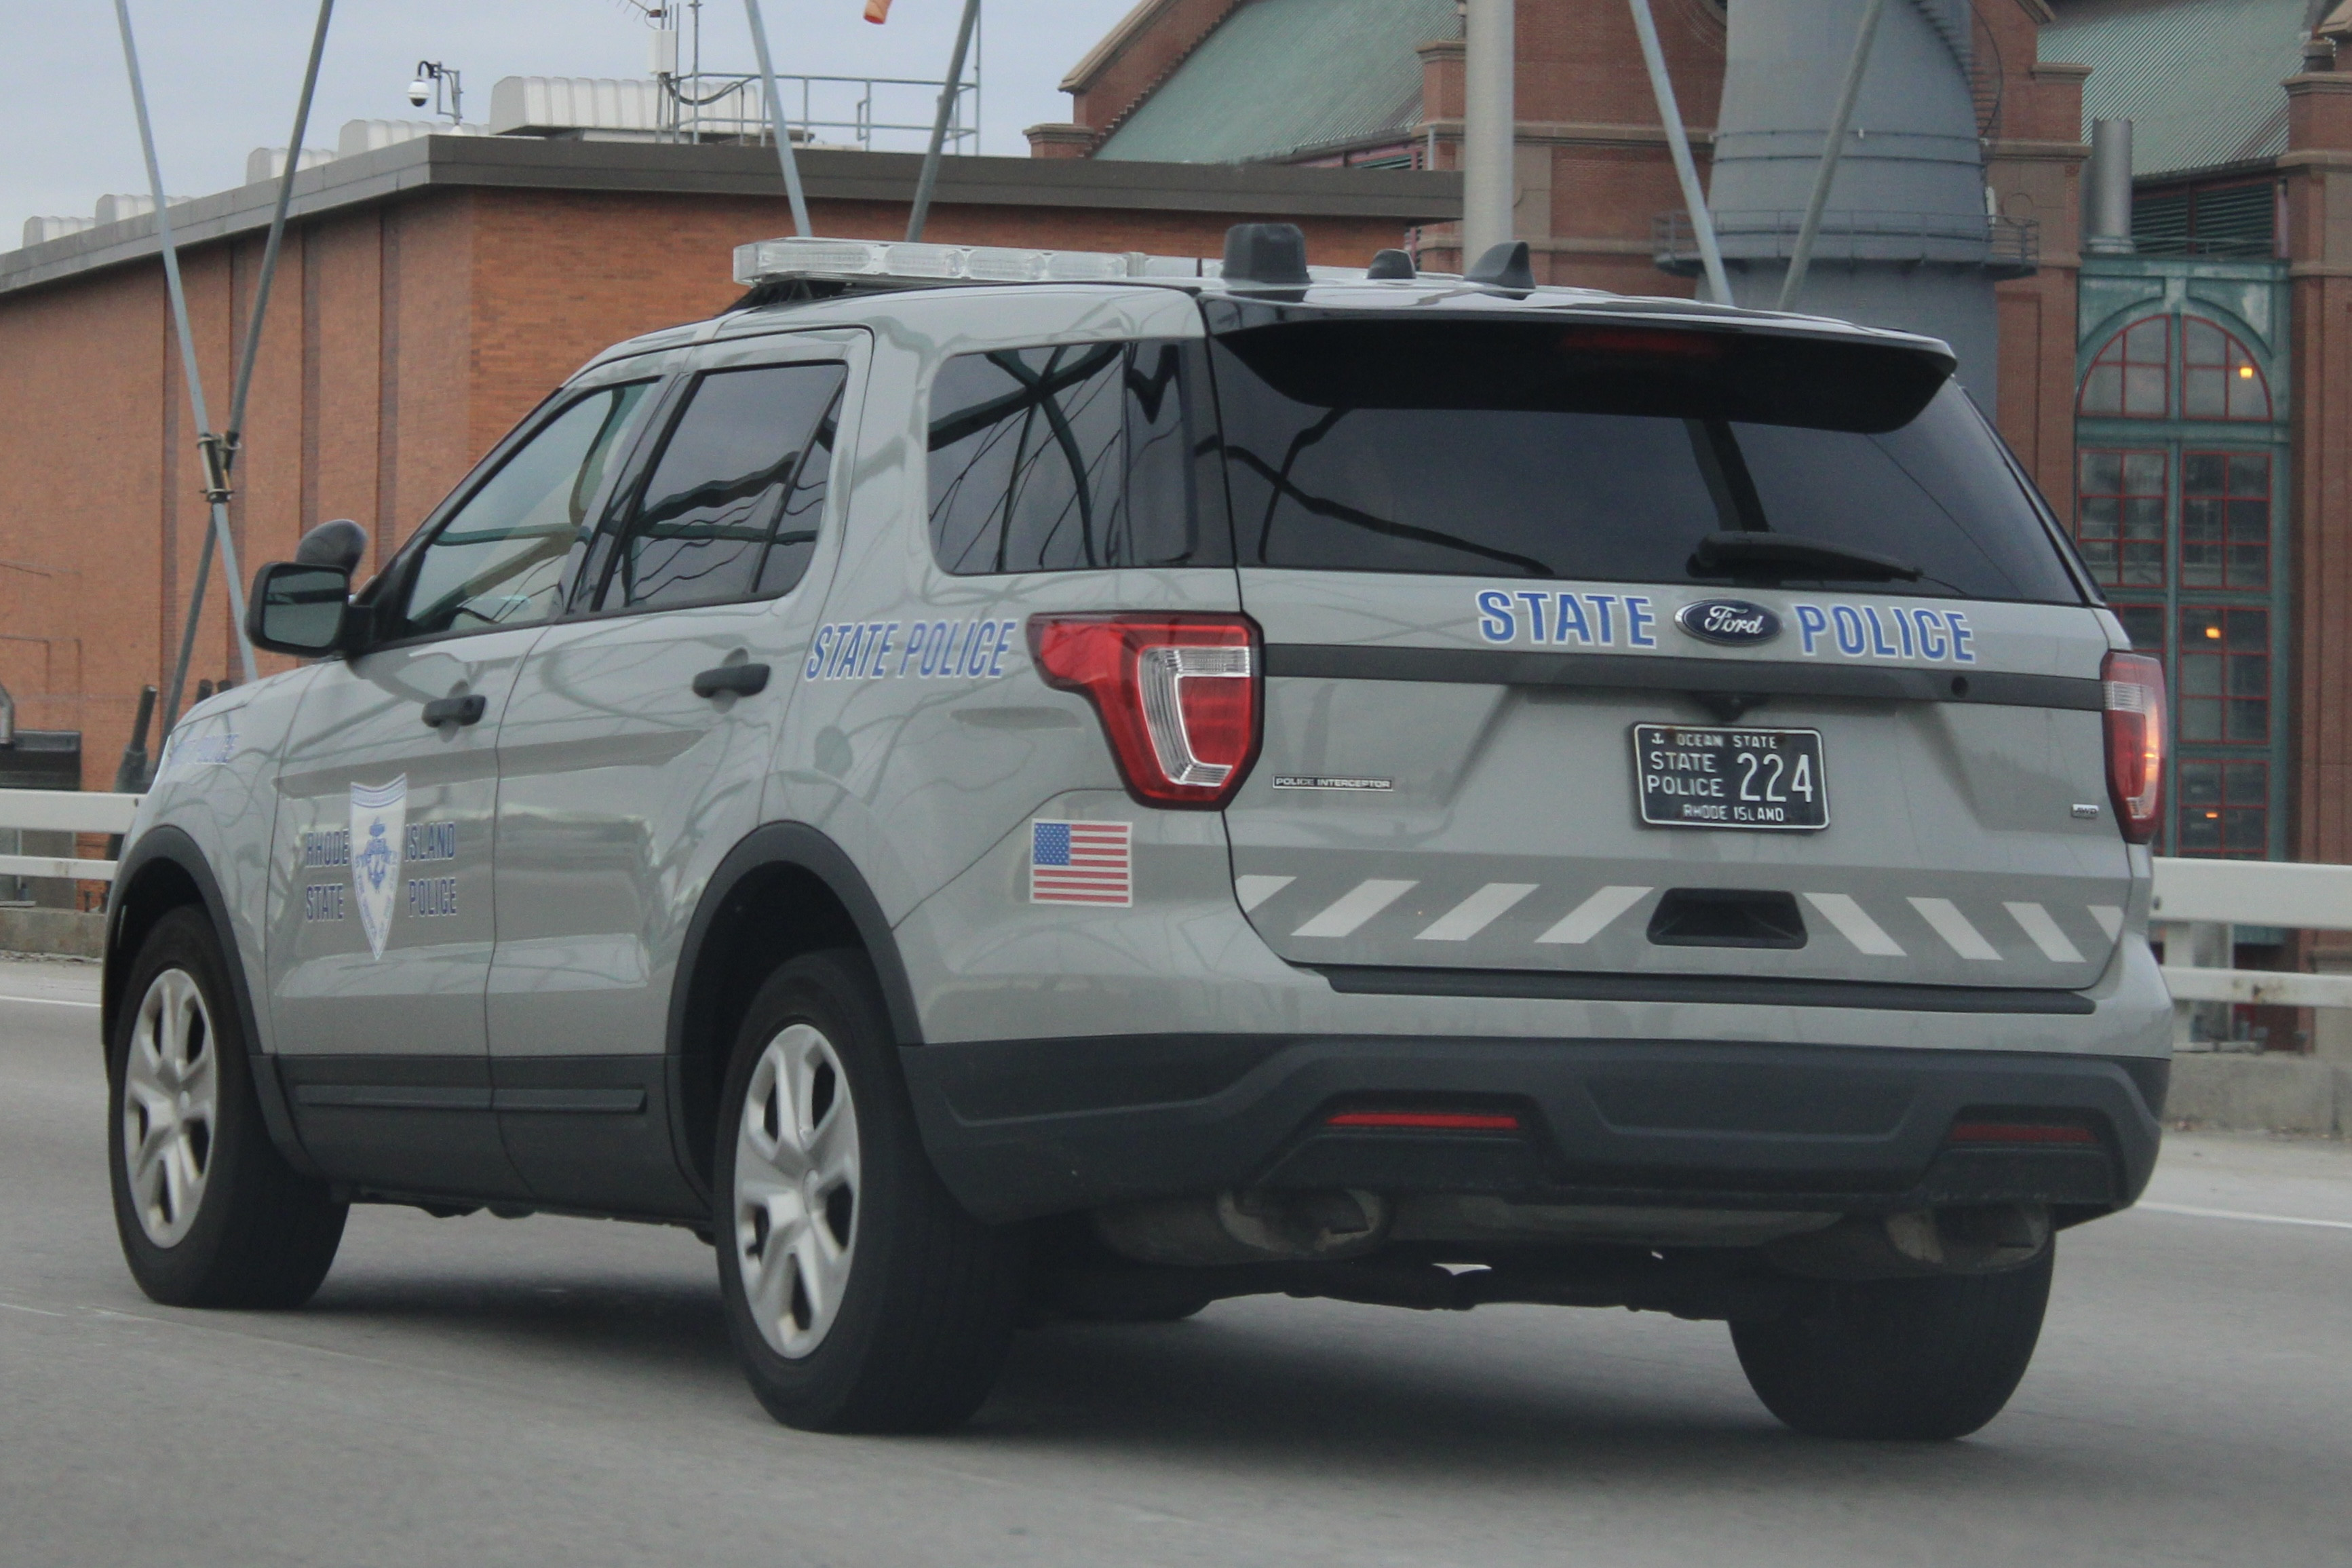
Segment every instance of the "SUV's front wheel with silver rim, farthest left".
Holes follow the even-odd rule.
[[[261,1121],[228,959],[200,910],[148,933],[106,1041],[106,1164],[132,1279],[167,1307],[299,1307],[346,1204]]]

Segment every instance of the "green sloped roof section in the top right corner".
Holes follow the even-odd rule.
[[[2131,120],[2131,167],[2183,174],[2286,150],[2286,92],[2303,68],[2307,0],[2060,5],[2042,59],[2091,66],[2082,125]]]

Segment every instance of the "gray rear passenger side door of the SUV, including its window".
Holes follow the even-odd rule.
[[[546,1201],[691,1204],[661,1114],[670,987],[713,870],[760,825],[866,341],[703,350],[607,508],[576,614],[522,663],[499,731],[489,1053],[508,1152]]]

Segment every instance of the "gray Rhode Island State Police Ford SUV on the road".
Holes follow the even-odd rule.
[[[849,240],[621,343],[172,733],[108,914],[139,1284],[348,1204],[687,1225],[750,1385],[1042,1316],[1729,1321],[1957,1436],[2157,1154],[2161,670],[1933,341]]]

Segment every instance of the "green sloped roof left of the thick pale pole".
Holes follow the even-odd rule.
[[[1402,136],[1421,118],[1414,45],[1458,35],[1454,0],[1249,0],[1096,158],[1251,162]]]

